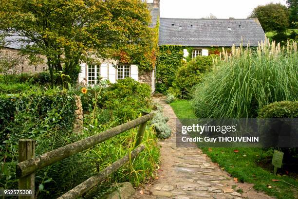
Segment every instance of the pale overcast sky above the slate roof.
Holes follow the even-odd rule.
[[[153,2],[153,0],[148,0]],[[269,2],[286,5],[286,0],[160,0],[162,18],[247,18],[258,5]]]

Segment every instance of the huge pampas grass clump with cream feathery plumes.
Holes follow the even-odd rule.
[[[297,42],[281,48],[265,39],[221,57],[193,93],[197,117],[254,118],[264,105],[298,100]]]

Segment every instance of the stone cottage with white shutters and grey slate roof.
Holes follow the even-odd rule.
[[[243,46],[248,43],[250,46],[258,46],[258,42],[265,38],[258,19],[160,18],[160,0],[148,3],[148,9],[152,18],[150,27],[155,27],[157,22],[160,22],[159,45],[191,47],[192,58],[210,54],[209,50],[212,47],[231,47],[233,44],[239,46],[241,43]],[[8,48],[14,49],[13,46]],[[186,49],[184,55],[189,55]],[[155,91],[155,70],[143,72],[138,70],[137,65],[120,64],[115,60],[100,60],[99,63],[81,63],[79,82],[85,78],[87,84],[93,85],[96,84],[97,77],[102,77],[115,83],[118,79],[131,77],[149,84],[152,91]],[[28,69],[21,71],[42,70],[46,70],[46,66],[28,66]]]

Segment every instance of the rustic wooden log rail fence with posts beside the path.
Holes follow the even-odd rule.
[[[138,154],[145,149],[145,146],[141,145],[141,143],[144,137],[146,124],[150,119],[152,119],[152,117],[153,117],[153,113],[143,115],[142,117],[139,117],[125,124],[119,125],[117,127],[113,127],[99,134],[77,141],[70,145],[57,148],[53,151],[47,152],[37,157],[35,157],[34,140],[31,140],[31,139],[19,140],[19,163],[16,166],[16,175],[17,175],[17,179],[19,179],[19,189],[31,189],[34,193],[34,178],[35,178],[34,173],[37,170],[42,169],[58,161],[61,161],[76,153],[84,151],[94,145],[102,143],[131,128],[139,126],[138,133],[136,136],[136,141],[135,141],[135,149],[132,150],[130,154],[127,154],[123,158],[112,163],[103,171],[99,172],[95,176],[77,185],[75,188],[68,191],[58,199],[75,199],[81,196],[82,194],[90,190],[93,186],[98,184],[100,181],[104,180],[108,175],[110,175],[118,168],[120,168],[123,164],[129,162],[130,158],[134,159],[135,157],[137,157]],[[35,198],[34,194],[30,197],[29,196],[19,197],[19,199],[34,199],[34,198]]]

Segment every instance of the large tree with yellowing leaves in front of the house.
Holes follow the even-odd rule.
[[[43,54],[53,72],[74,75],[83,61],[134,61],[152,49],[150,14],[141,0],[2,0],[0,30],[19,36],[23,52]],[[77,75],[77,74],[76,74]],[[53,82],[52,82],[53,83]]]

